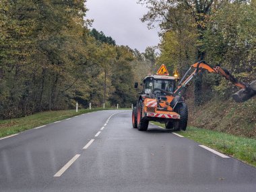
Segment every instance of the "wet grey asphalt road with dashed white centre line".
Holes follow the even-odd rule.
[[[87,113],[0,140],[0,191],[256,191],[255,168],[199,145]]]

